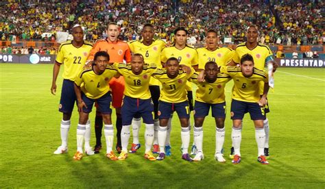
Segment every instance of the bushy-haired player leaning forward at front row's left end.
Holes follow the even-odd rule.
[[[75,95],[79,111],[79,124],[77,127],[77,153],[73,156],[74,160],[82,159],[82,143],[86,132],[86,121],[89,113],[93,109],[93,103],[97,102],[99,112],[103,116],[106,138],[106,157],[110,160],[117,160],[117,156],[112,151],[114,141],[114,131],[110,115],[110,86],[108,81],[117,74],[114,66],[107,66],[110,56],[106,51],[98,51],[92,68],[87,68],[75,78]]]

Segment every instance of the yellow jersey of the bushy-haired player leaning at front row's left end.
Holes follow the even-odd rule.
[[[86,97],[90,99],[99,99],[110,90],[108,81],[116,74],[117,69],[112,65],[108,65],[106,70],[100,75],[94,72],[93,67],[86,68],[75,77],[75,84],[81,87]]]

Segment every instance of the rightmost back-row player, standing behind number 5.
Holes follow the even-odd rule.
[[[239,64],[241,57],[246,53],[249,53],[254,58],[254,66],[260,70],[264,70],[265,64],[271,62],[274,65],[274,71],[278,64],[274,62],[273,53],[267,47],[267,45],[262,45],[258,43],[258,28],[256,25],[250,25],[247,29],[246,37],[247,41],[239,44],[236,48],[236,53],[234,55],[233,62],[235,64]],[[234,65],[233,63],[230,65]],[[259,84],[260,88],[260,95],[263,95],[263,82],[261,81]],[[267,103],[265,108],[265,113],[269,112],[269,105]],[[265,121],[263,122],[265,128],[265,155],[269,156],[269,120],[265,116]],[[230,155],[233,155],[234,151],[233,148],[231,149]]]

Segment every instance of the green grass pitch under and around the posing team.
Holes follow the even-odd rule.
[[[324,68],[278,68],[276,88],[268,96],[271,156],[267,166],[256,161],[254,127],[248,115],[243,123],[242,162],[233,165],[228,157],[231,81],[226,87],[226,164],[214,159],[215,124],[210,116],[204,123],[202,162],[181,159],[177,116],[171,133],[173,155],[163,162],[145,160],[144,148],[123,162],[108,160],[104,151],[75,162],[77,111],[71,119],[69,153],[53,155],[60,145],[62,78],[57,95],[51,95],[52,68],[0,64],[0,188],[325,188]],[[92,122],[93,118],[92,113]],[[143,133],[144,126],[141,144]],[[95,144],[93,123],[91,144]]]

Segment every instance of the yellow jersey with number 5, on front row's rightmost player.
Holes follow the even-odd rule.
[[[234,80],[234,87],[232,88],[232,99],[237,101],[245,101],[256,103],[261,99],[258,92],[258,83],[269,81],[267,72],[254,68],[251,77],[243,76],[241,68],[238,66],[221,66],[221,73],[227,73]]]

